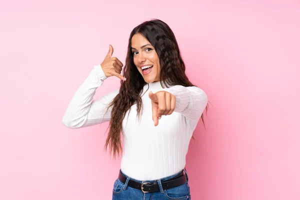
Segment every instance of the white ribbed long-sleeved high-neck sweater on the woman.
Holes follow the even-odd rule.
[[[95,90],[106,78],[101,66],[95,65],[69,102],[62,118],[66,127],[80,128],[110,120],[111,107],[104,115],[106,105],[119,89],[93,100]],[[148,92],[155,93],[159,90],[175,95],[176,105],[172,114],[162,115],[158,125],[154,126]],[[195,86],[173,85],[162,88],[160,82],[146,84],[142,94],[140,121],[136,117],[134,104],[122,122],[123,153],[120,168],[132,178],[154,180],[184,168],[189,140],[206,106],[207,96]]]

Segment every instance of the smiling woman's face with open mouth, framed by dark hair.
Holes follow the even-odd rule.
[[[150,42],[143,35],[136,33],[131,38],[131,51],[133,62],[145,82],[159,81],[159,58]]]

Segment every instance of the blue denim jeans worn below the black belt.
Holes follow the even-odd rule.
[[[185,173],[186,170],[182,169]],[[161,186],[161,181],[172,178],[179,173],[182,172],[179,171],[178,173],[175,173],[170,176],[166,176],[157,180],[136,180],[134,178],[131,178],[127,175],[125,175],[122,171],[121,173],[127,178],[125,183],[122,183],[118,178],[114,181],[113,183],[113,189],[112,189],[112,200],[131,200],[131,199],[180,199],[180,200],[185,200],[185,199],[190,199],[190,193],[189,193],[189,185],[188,185],[188,177],[186,173],[186,179],[187,181],[179,186],[169,188],[169,189],[163,189]],[[137,182],[150,182],[153,183],[154,181],[157,181],[157,184],[159,185],[160,191],[155,191],[155,192],[142,192],[140,189],[135,189],[132,187],[127,186],[129,180],[134,180]]]

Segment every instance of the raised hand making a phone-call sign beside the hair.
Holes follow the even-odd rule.
[[[113,47],[109,44],[109,50],[107,55],[105,56],[104,60],[100,64],[102,67],[102,70],[106,77],[115,75],[116,77],[120,78],[121,80],[125,80],[125,77],[123,77],[120,73],[122,71],[122,62],[118,60],[116,57],[111,57],[113,53]]]

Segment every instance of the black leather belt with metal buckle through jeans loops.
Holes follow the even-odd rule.
[[[119,171],[118,179],[125,184],[127,178],[121,173],[121,170]],[[161,186],[162,189],[169,189],[185,183],[186,180],[187,180],[186,175],[183,174],[182,171],[181,173],[179,173],[178,175],[170,179],[161,181]],[[149,182],[140,183],[130,179],[128,181],[128,186],[135,189],[140,189],[142,192],[160,191],[157,181],[154,181],[153,183],[149,183]]]

